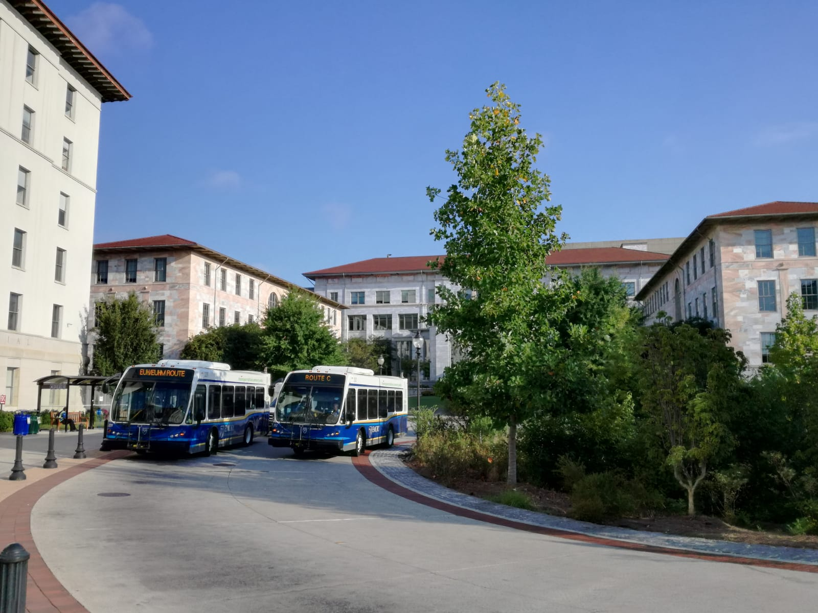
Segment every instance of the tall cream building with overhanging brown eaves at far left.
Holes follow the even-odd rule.
[[[0,0],[5,409],[35,409],[35,379],[81,372],[100,110],[130,97],[41,0]]]

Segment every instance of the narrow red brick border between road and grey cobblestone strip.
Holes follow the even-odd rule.
[[[581,543],[605,545],[607,547],[631,549],[634,551],[643,551],[647,553],[662,553],[667,556],[689,557],[695,560],[708,560],[709,562],[729,562],[731,564],[743,564],[744,566],[762,566],[764,568],[779,568],[783,570],[798,570],[800,572],[818,573],[818,566],[812,564],[802,564],[799,562],[775,562],[774,560],[762,560],[754,557],[725,556],[718,555],[716,553],[699,553],[694,551],[685,551],[683,549],[658,547],[655,545],[628,543],[627,541],[605,539],[599,536],[582,535],[576,532],[569,532],[567,530],[558,530],[556,528],[532,526],[531,524],[526,524],[522,521],[513,521],[502,517],[488,515],[487,513],[473,511],[469,508],[457,507],[454,504],[444,503],[440,500],[425,496],[424,494],[418,494],[416,491],[409,490],[402,485],[398,485],[387,477],[384,477],[384,475],[370,463],[369,458],[367,457],[369,454],[370,452],[367,450],[365,455],[360,455],[357,458],[353,456],[353,465],[358,469],[358,472],[366,477],[366,479],[375,485],[382,487],[384,490],[391,492],[392,494],[396,494],[415,503],[425,504],[427,507],[452,513],[452,515],[457,515],[459,517],[468,517],[478,521],[485,521],[496,526],[506,526],[506,528],[514,528],[515,530],[525,530],[538,535],[555,536],[560,539],[576,540]]]

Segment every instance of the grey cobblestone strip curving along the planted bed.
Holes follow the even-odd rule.
[[[815,566],[815,570],[818,571],[818,549],[731,543],[729,541],[666,535],[661,532],[630,530],[617,526],[600,526],[587,521],[570,519],[569,517],[556,517],[546,515],[546,513],[508,507],[505,504],[492,503],[488,500],[450,490],[443,485],[421,477],[411,468],[408,468],[400,459],[400,454],[404,451],[406,451],[405,447],[396,446],[389,450],[372,451],[367,458],[373,468],[396,485],[429,499],[462,508],[469,512],[479,512],[489,517],[497,517],[537,528],[557,530],[566,533],[566,535],[587,535],[605,541],[674,550],[679,553],[699,553],[710,557],[725,556],[808,565]]]

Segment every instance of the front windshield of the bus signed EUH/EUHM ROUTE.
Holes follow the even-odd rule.
[[[111,418],[115,422],[182,423],[190,398],[190,383],[123,380],[111,403]]]

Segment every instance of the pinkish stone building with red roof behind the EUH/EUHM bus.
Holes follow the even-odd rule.
[[[267,308],[298,287],[173,235],[100,243],[93,255],[91,319],[109,296],[136,293],[154,311],[165,358],[177,358],[191,336],[210,326],[263,323]],[[339,337],[344,307],[317,298],[326,325]]]

